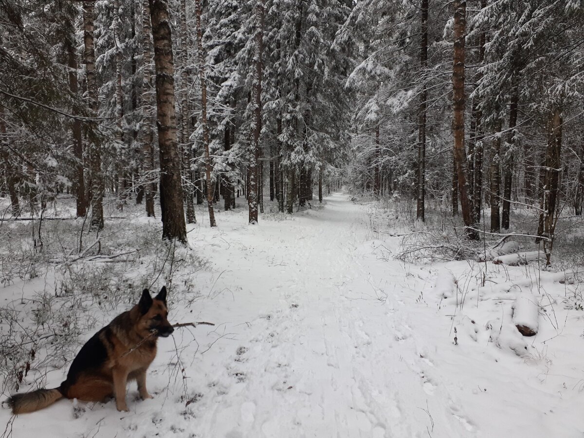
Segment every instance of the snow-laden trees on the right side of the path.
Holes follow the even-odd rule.
[[[377,194],[380,172],[382,187],[390,179],[385,193],[397,189],[415,199],[422,220],[428,200],[430,206],[448,201],[454,214],[460,205],[476,237],[473,229],[483,217],[490,221],[487,231],[513,228],[514,206],[537,209],[552,201],[552,193],[568,196],[571,206],[582,203],[580,150],[572,147],[554,161],[556,190],[556,171],[545,164],[555,157],[549,152],[555,142],[545,139],[550,108],[560,112],[562,140],[575,145],[582,138],[565,117],[582,103],[584,82],[575,61],[582,45],[558,41],[582,32],[584,11],[569,1],[466,5],[454,2],[453,16],[444,1],[364,0],[341,34],[357,60],[347,81],[357,93],[350,180]],[[358,43],[352,46],[350,38]],[[485,201],[490,208],[483,215]],[[543,228],[540,233],[547,235]]]

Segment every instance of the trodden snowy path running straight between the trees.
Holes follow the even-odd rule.
[[[197,436],[475,436],[409,321],[423,277],[374,254],[365,207],[335,193],[293,222],[238,230],[211,260],[233,284],[217,283],[252,288],[231,314],[256,318],[228,330],[239,346],[209,373]]]

